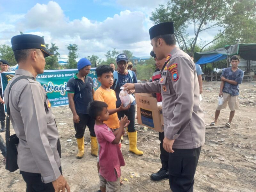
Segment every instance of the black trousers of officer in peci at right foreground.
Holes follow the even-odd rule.
[[[169,184],[173,192],[193,192],[194,175],[201,147],[173,149],[169,153]]]

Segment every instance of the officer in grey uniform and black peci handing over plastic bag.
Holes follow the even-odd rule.
[[[204,113],[199,106],[196,67],[187,53],[176,47],[172,22],[149,29],[158,60],[166,57],[162,77],[144,84],[125,84],[135,92],[161,92],[163,97],[164,141],[169,152],[169,183],[173,192],[192,192],[194,175],[205,140]]]

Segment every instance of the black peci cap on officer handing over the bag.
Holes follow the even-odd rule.
[[[148,30],[148,32],[149,32],[150,40],[156,36],[174,34],[173,22],[157,24],[157,25],[151,27]]]

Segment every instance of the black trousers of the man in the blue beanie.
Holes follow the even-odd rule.
[[[94,132],[94,124],[95,121],[94,119],[92,119],[88,114],[78,114],[80,121],[79,123],[74,123],[75,126],[75,130],[76,130],[76,139],[81,139],[82,137],[84,137],[84,131],[86,126],[89,127],[89,131],[90,131],[90,135],[92,137],[96,137],[96,134]]]

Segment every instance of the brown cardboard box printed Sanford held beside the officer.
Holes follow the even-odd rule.
[[[148,93],[135,93],[138,123],[158,132],[163,132],[164,117],[162,109],[158,109],[156,98]]]

